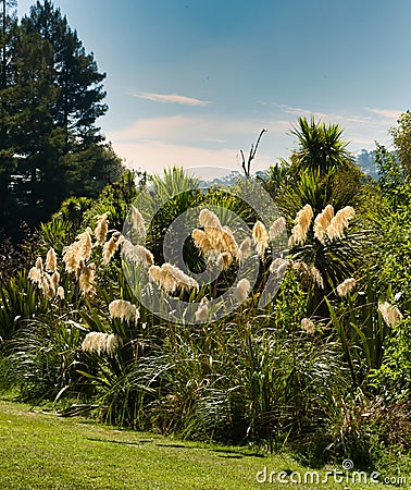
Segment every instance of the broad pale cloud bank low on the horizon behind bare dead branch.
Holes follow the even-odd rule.
[[[159,172],[173,164],[239,170],[239,150],[248,154],[263,127],[267,133],[253,161],[253,170],[261,170],[275,159],[286,157],[278,154],[288,139],[288,121],[179,114],[137,120],[107,136],[130,167],[150,172]]]

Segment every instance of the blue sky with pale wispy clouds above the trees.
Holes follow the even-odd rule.
[[[18,15],[34,3],[18,0]],[[299,117],[348,149],[390,145],[411,106],[410,0],[54,0],[107,73],[102,133],[128,167],[252,170],[287,159]]]

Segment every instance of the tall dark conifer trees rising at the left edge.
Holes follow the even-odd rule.
[[[94,54],[51,1],[21,22],[13,5],[2,1],[0,66],[0,226],[11,234],[122,172],[97,126],[108,106]]]

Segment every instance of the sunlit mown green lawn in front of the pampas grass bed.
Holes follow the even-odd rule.
[[[119,430],[0,401],[0,489],[389,488],[354,483],[353,475],[345,473],[342,482],[335,481],[334,474],[326,473],[333,470],[320,471],[320,480],[327,478],[327,483],[312,483],[311,475],[303,483],[310,469],[284,455],[265,456],[242,448]],[[271,471],[275,471],[272,482]],[[278,481],[279,471],[285,471],[279,477],[283,482]],[[292,471],[301,475],[301,483],[292,482],[298,479]],[[407,488],[402,483],[400,487]]]

